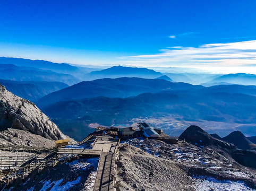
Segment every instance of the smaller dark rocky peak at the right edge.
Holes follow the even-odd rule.
[[[234,144],[238,149],[256,149],[256,145],[248,140],[240,131],[234,131],[223,137],[222,140]]]

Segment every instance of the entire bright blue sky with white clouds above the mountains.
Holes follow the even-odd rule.
[[[216,71],[252,68],[255,8],[250,0],[1,1],[0,56]]]

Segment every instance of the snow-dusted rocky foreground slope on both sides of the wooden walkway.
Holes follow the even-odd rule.
[[[255,190],[255,169],[243,166],[232,155],[243,150],[217,140],[198,126],[190,126],[182,136],[188,141],[173,144],[144,137],[123,140],[116,160],[116,190]],[[195,138],[190,140],[191,136]],[[83,143],[85,147],[93,144],[95,137],[91,138]],[[243,154],[252,157],[251,152]],[[14,181],[5,190],[92,190],[98,158],[87,157],[59,155],[56,166],[46,167],[41,173],[32,171],[23,182]]]

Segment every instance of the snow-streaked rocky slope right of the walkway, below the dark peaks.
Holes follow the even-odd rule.
[[[170,173],[170,177],[174,179],[174,182],[176,182],[176,177],[178,177],[184,186],[187,184],[192,185],[191,190],[224,191],[254,190],[256,188],[254,178],[256,171],[252,168],[242,166],[231,157],[227,149],[221,147],[210,144],[207,146],[198,146],[185,141],[179,141],[178,144],[168,144],[163,141],[145,140],[144,138],[128,139],[125,141],[125,145],[131,145],[132,147],[125,146],[124,149],[120,150],[120,162],[122,165],[118,165],[117,168],[118,178],[121,178],[120,187],[122,189],[120,190],[128,190],[128,188],[129,190],[141,190],[136,187],[141,188],[144,186],[143,181],[148,181],[150,186],[154,188],[148,188],[146,190],[184,190],[184,187],[178,189],[180,183],[177,183],[175,186],[172,183],[168,183],[168,175],[161,177],[162,174],[165,174],[165,170],[177,170],[181,172],[181,169],[184,172],[183,175],[185,175],[183,177],[178,175],[178,173],[174,176],[172,173],[168,173]],[[141,149],[143,152],[138,149]],[[148,154],[155,159],[153,163],[150,162],[150,159],[143,159]],[[163,169],[161,167],[158,168],[160,160],[164,160],[165,163],[172,163],[169,166],[170,168],[166,168],[165,165],[163,165]],[[152,172],[151,166],[156,167],[153,168]],[[160,169],[160,174],[157,173],[158,169]],[[135,173],[135,176],[139,174],[139,177],[143,178],[138,178],[138,181],[136,179],[132,180],[130,178],[130,174],[132,173]],[[186,176],[191,178],[192,183],[187,181]],[[168,189],[159,189],[157,187],[158,177],[165,180],[163,185],[170,187]]]

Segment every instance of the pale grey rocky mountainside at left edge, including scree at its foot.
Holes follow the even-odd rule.
[[[40,139],[59,140],[66,136],[35,104],[24,100],[0,85],[0,140],[16,145],[38,146]],[[16,137],[16,138],[15,138]],[[20,137],[20,138],[19,138]],[[24,141],[16,141],[17,138]],[[28,140],[30,143],[26,142]],[[33,141],[32,141],[33,140]],[[32,143],[37,143],[32,144]],[[54,142],[53,142],[54,143]]]

